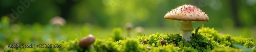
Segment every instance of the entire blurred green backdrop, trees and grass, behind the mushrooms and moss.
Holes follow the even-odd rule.
[[[181,22],[165,20],[163,16],[178,6],[191,4],[209,16],[208,22],[193,22],[194,29],[203,24],[219,33],[255,37],[255,3],[256,0],[0,0],[0,16],[10,19],[5,30],[4,22],[1,23],[1,34],[18,30],[9,34],[27,31],[24,35],[30,35],[28,32],[37,30],[40,33],[35,35],[48,35],[54,27],[50,19],[55,16],[66,19],[67,25],[61,30],[70,35],[96,34],[96,37],[103,38],[104,34],[112,35],[113,28],[117,27],[125,35],[127,22],[133,23],[133,30],[143,27],[142,34],[146,35],[182,33],[179,30]],[[13,17],[13,11],[19,16],[14,14]],[[6,19],[2,17],[1,20]]]

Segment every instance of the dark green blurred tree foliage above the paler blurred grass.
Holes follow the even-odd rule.
[[[229,28],[237,23],[234,17],[238,17],[238,23],[242,27],[251,28],[256,22],[256,2],[252,0],[35,0],[17,18],[9,14],[12,13],[11,9],[17,11],[19,6],[24,7],[23,3],[15,0],[1,0],[0,3],[0,16],[8,15],[12,23],[25,24],[48,24],[50,18],[61,16],[68,23],[91,23],[100,27],[123,27],[120,24],[126,22],[142,27],[174,27],[174,21],[165,20],[163,16],[167,11],[183,4],[195,5],[208,14],[210,20],[195,23],[197,26],[205,24],[207,27]],[[231,5],[233,3],[236,5]]]

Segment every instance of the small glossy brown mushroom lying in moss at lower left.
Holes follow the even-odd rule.
[[[94,49],[94,47],[93,47],[94,41],[95,41],[95,37],[94,37],[92,34],[90,34],[90,35],[88,35],[87,37],[82,38],[82,39],[79,41],[79,44],[78,44],[78,45],[79,45],[80,47],[88,47],[88,46],[91,46],[91,48]]]

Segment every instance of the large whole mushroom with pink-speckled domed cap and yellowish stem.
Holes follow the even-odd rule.
[[[182,5],[165,14],[164,19],[182,21],[182,38],[187,42],[191,40],[191,31],[194,30],[191,21],[208,21],[209,17],[196,6]]]

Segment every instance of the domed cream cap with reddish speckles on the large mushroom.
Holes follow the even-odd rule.
[[[165,14],[164,19],[186,21],[208,21],[209,17],[193,5],[182,5]]]

